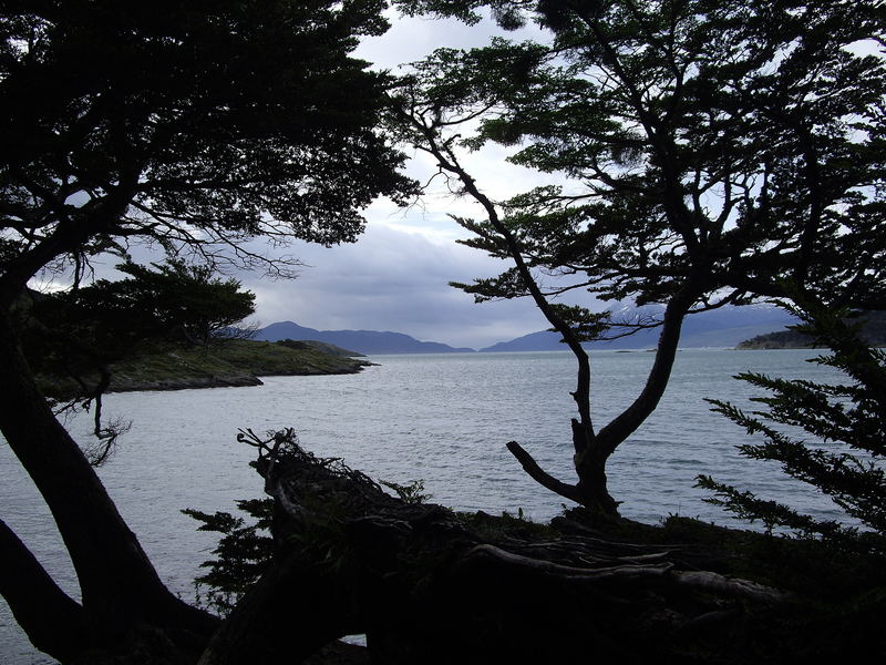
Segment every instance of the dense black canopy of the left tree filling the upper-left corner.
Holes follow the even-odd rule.
[[[132,238],[286,269],[243,243],[350,242],[409,191],[349,57],[378,0],[8,3],[0,45],[3,289]]]

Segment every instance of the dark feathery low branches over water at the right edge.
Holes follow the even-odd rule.
[[[868,347],[858,337],[859,324],[847,320],[845,310],[804,303],[791,311],[803,321],[795,327],[797,331],[811,336],[816,346],[831,349],[811,361],[841,370],[848,382],[820,383],[745,372],[735,378],[771,393],[754,398],[765,410],[748,413],[728,401],[710,401],[714,411],[749,434],[762,436],[761,443],[739,447],[742,456],[779,462],[785,473],[831,497],[865,529],[801,514],[709,475],[699,475],[698,484],[714,493],[711,503],[741,519],[761,520],[767,531],[784,526],[804,536],[821,536],[853,554],[884,556],[886,352]],[[792,433],[797,429],[817,441],[815,447]]]

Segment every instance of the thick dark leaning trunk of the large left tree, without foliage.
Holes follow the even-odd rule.
[[[0,401],[0,431],[64,540],[90,637],[112,638],[138,623],[208,636],[217,620],[164,586],[94,469],[55,419],[21,352],[9,311],[0,313],[0,385],[7,396]],[[49,625],[60,620],[51,614],[45,616]]]

